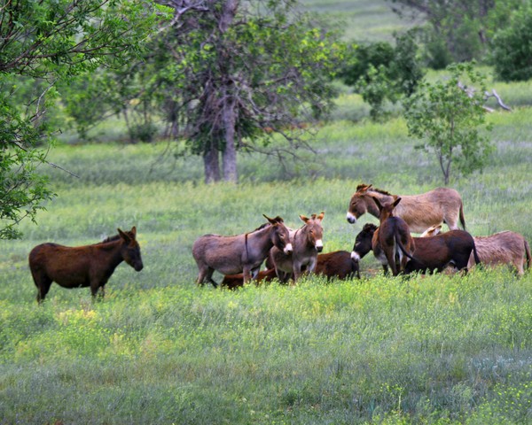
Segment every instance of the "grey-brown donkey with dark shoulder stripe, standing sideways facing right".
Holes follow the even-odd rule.
[[[289,255],[292,243],[283,219],[264,217],[268,223],[243,235],[204,235],[196,239],[192,255],[199,269],[197,284],[203,285],[207,280],[216,288],[218,284],[213,279],[215,270],[222,274],[243,273],[246,283],[258,273],[271,247],[275,246]]]

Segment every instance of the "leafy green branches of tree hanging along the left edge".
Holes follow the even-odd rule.
[[[53,122],[46,111],[62,79],[98,66],[121,66],[138,54],[154,26],[149,2],[126,0],[0,1],[0,238],[20,237],[20,220],[54,194],[37,167]],[[162,12],[162,10],[160,11]],[[53,165],[52,165],[53,166]]]

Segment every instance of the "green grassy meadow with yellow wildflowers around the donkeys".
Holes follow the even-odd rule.
[[[386,38],[400,25],[381,1],[307,4],[344,19],[352,6],[353,37]],[[532,242],[532,88],[489,88],[513,111],[489,114],[497,151],[450,186],[474,236],[513,230]],[[529,271],[393,278],[370,254],[361,280],[195,285],[198,236],[244,233],[263,213],[297,228],[299,214],[325,211],[325,251],[350,251],[364,223],[378,222],[345,219],[357,184],[396,194],[442,185],[401,118],[372,123],[346,88],[337,104],[305,166],[287,174],[240,153],[239,185],[205,185],[200,158],[165,155],[166,143],[52,149],[48,159],[79,177],[43,166],[58,196],[37,224],[22,223],[22,239],[0,241],[0,424],[532,422]],[[108,126],[107,140],[119,139]],[[103,301],[53,283],[36,304],[27,267],[36,244],[95,243],[132,226],[140,273],[122,263]]]

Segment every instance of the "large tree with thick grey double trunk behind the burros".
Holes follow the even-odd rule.
[[[237,182],[239,151],[282,160],[309,147],[290,130],[332,107],[337,35],[297,12],[293,0],[160,3],[173,19],[141,62],[107,76],[128,111],[147,103],[159,112],[166,134],[203,158],[206,182]],[[289,145],[273,143],[276,134]]]

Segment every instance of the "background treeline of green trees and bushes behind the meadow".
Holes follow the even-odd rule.
[[[339,11],[333,3],[292,0],[6,4],[0,220],[7,224],[0,237],[20,236],[20,220],[34,219],[40,203],[53,197],[45,175],[35,173],[51,143],[105,140],[98,134],[104,122],[115,128],[113,140],[162,138],[173,142],[168,156],[199,156],[206,182],[238,182],[237,158],[253,151],[277,158],[286,175],[295,175],[346,86],[370,106],[372,120],[387,120],[416,116],[408,110],[426,101],[419,87],[436,90],[424,82],[431,67],[453,73],[455,63],[474,59],[491,66],[496,81],[530,78],[529,1],[377,2],[374,19],[395,29],[380,40],[364,36],[371,27],[364,14],[350,20],[360,5],[366,7],[353,2]],[[344,11],[353,12],[340,19]],[[476,90],[465,114],[471,118],[489,88],[469,71],[457,73],[456,81],[469,97]],[[439,90],[441,98],[447,90],[457,99],[449,103],[456,112],[465,95],[449,84]],[[409,127],[430,138],[416,124]],[[489,146],[469,149],[480,139],[458,139],[450,135],[454,142],[445,149],[480,151],[462,171],[481,169]],[[438,143],[432,143],[436,155],[452,161]]]

